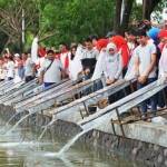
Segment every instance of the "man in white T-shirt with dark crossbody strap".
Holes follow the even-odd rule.
[[[55,58],[53,50],[48,50],[46,60],[40,68],[39,81],[45,85],[45,88],[48,88],[53,84],[59,84],[61,77],[63,77],[61,61]]]

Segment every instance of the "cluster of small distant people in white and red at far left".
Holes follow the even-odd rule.
[[[0,58],[0,81],[13,80],[26,82],[32,80],[36,76],[36,65],[31,61],[29,53],[12,55],[7,49]]]

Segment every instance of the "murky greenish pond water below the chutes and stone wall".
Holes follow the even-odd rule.
[[[30,128],[18,128],[6,136],[1,135],[6,129],[0,129],[0,167],[138,167],[128,160],[107,156],[102,150],[95,151],[79,144],[60,158],[52,155],[66,141],[56,139],[49,132],[42,141],[37,141],[40,132],[32,132]]]

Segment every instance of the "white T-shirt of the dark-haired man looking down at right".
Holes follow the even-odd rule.
[[[156,52],[157,52],[156,46],[151,43],[147,43],[146,46],[138,46],[136,48],[136,57],[139,59],[139,76],[146,75],[147,68],[151,62],[151,55]],[[156,67],[154,67],[148,78],[155,77],[156,77]]]

